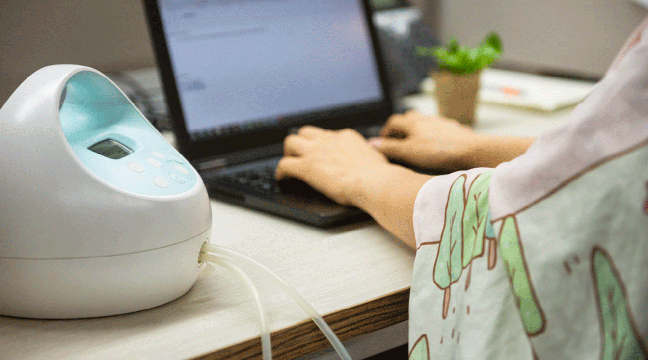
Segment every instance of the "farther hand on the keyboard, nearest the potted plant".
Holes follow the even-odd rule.
[[[408,111],[391,115],[380,137],[369,143],[387,157],[419,168],[458,170],[471,165],[469,154],[477,137],[456,120]]]

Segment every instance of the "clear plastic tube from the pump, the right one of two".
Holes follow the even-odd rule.
[[[315,311],[315,309],[310,306],[310,304],[308,304],[305,298],[297,293],[297,290],[295,290],[294,287],[290,286],[290,284],[285,282],[277,274],[273,273],[272,270],[268,269],[262,264],[259,264],[259,262],[255,261],[254,259],[249,258],[244,254],[238,253],[237,251],[227,249],[226,247],[205,243],[200,251],[201,253],[214,253],[227,256],[228,258],[239,260],[255,267],[255,269],[266,275],[268,278],[270,278],[270,280],[275,282],[275,284],[284,289],[284,291],[286,291],[288,295],[294,298],[295,302],[297,302],[297,304],[299,304],[299,306],[301,306],[301,308],[306,311],[308,316],[310,316],[310,319],[312,319],[313,322],[315,322],[315,324],[318,326],[319,330],[324,333],[324,336],[329,339],[330,343],[332,344],[338,355],[340,355],[341,359],[352,360],[351,355],[349,355],[349,352],[347,352],[347,349],[344,348],[344,346],[340,342],[340,339],[338,339],[333,330],[331,330],[329,324],[327,324],[319,315],[319,313]]]

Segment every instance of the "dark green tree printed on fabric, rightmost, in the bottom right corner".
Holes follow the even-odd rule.
[[[645,345],[632,321],[625,286],[612,258],[601,247],[594,247],[591,263],[603,337],[601,359],[647,359]]]

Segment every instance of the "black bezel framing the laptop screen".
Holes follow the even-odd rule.
[[[161,76],[165,92],[168,115],[176,134],[176,143],[179,151],[189,161],[199,161],[226,155],[227,153],[240,152],[247,149],[259,148],[283,142],[283,139],[295,126],[312,124],[326,129],[341,129],[365,124],[377,124],[387,120],[393,113],[393,103],[389,95],[388,77],[384,59],[380,52],[378,35],[371,19],[371,5],[369,0],[362,0],[365,21],[371,37],[371,45],[376,60],[380,86],[383,94],[382,100],[367,104],[336,108],[329,111],[318,111],[308,115],[289,117],[285,125],[279,124],[273,128],[261,128],[256,131],[233,133],[211,139],[194,141],[187,132],[187,126],[182,111],[178,94],[178,85],[174,76],[173,65],[167,47],[167,38],[162,24],[161,12],[157,0],[143,0],[148,20],[148,28],[153,48],[156,54],[157,67]],[[295,125],[299,118],[308,118],[310,121]]]

